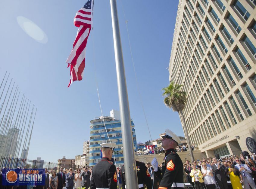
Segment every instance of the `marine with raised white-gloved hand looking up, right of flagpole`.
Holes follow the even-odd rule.
[[[162,162],[162,181],[158,189],[184,188],[183,183],[183,163],[180,156],[174,150],[181,143],[180,138],[170,131],[165,130],[166,134],[162,136],[162,147],[165,149],[165,157]],[[156,159],[154,159],[156,161]],[[151,165],[156,172],[161,172],[158,163],[152,161]],[[157,161],[156,161],[157,162]]]

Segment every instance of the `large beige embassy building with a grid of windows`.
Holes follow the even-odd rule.
[[[169,81],[187,92],[189,138],[207,157],[256,150],[255,5],[179,1]]]

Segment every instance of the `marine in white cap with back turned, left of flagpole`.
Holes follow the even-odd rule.
[[[101,144],[102,159],[92,170],[90,189],[117,189],[116,166],[110,161],[115,143]]]

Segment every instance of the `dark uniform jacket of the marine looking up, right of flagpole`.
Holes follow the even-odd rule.
[[[162,181],[159,189],[184,188],[183,163],[176,151],[171,148],[164,151],[165,157],[162,163]],[[160,171],[158,169],[158,171]]]

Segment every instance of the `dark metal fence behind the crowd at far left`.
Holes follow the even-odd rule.
[[[24,168],[26,167],[27,169],[55,169],[57,170],[60,167],[63,168],[69,168],[73,167],[72,164],[60,164],[60,163],[53,163],[53,162],[46,162],[44,160],[28,160],[28,159],[21,159],[21,158],[14,158],[14,157],[0,157],[0,167],[6,167],[10,169],[14,169],[17,167]]]

